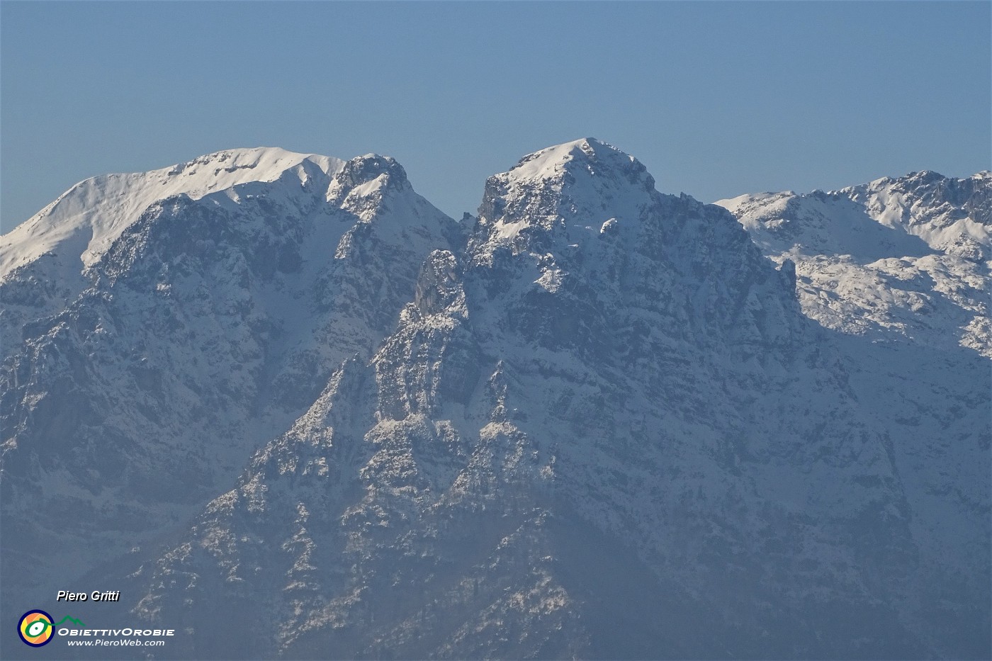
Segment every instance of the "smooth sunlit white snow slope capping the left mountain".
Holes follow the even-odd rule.
[[[237,149],[147,173],[104,175],[76,184],[0,243],[0,331],[20,337],[27,321],[62,312],[89,284],[87,272],[150,207],[251,182],[299,188],[326,181],[343,162],[277,148]],[[323,184],[326,186],[326,184]],[[5,342],[4,355],[13,347]]]

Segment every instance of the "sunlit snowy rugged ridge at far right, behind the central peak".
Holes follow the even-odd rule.
[[[992,173],[933,172],[831,193],[722,199],[762,251],[796,264],[806,315],[878,341],[992,357]]]

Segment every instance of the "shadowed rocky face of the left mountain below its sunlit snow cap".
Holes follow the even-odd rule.
[[[69,578],[55,568],[85,571],[184,521],[342,360],[370,354],[413,298],[419,264],[457,240],[392,159],[292,158],[278,177],[240,181],[244,156],[195,180],[212,193],[152,201],[133,220],[121,212],[109,245],[83,253],[94,260],[73,276],[84,287],[64,300],[54,290],[43,307],[59,312],[5,333],[24,337],[0,373],[5,595],[50,588]],[[133,176],[133,197],[163,177],[163,190],[183,188],[168,177],[215,160]],[[7,238],[9,252],[24,247]],[[34,300],[37,284],[64,282],[47,269],[71,246],[42,243],[55,253],[9,274],[5,295]]]

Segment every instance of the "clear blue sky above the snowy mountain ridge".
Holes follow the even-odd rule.
[[[988,2],[0,3],[3,231],[231,147],[396,157],[442,210],[584,136],[704,201],[992,167]]]

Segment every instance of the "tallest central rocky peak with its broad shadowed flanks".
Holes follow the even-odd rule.
[[[980,656],[987,485],[903,471],[987,459],[987,402],[942,454],[898,437],[793,278],[608,145],[525,157],[372,359],[136,561],[135,613],[197,658]]]

